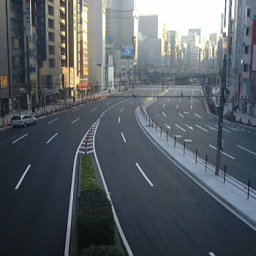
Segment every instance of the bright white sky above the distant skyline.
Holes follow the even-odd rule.
[[[138,15],[158,14],[168,30],[180,35],[187,35],[189,29],[219,33],[224,7],[225,0],[137,0]]]

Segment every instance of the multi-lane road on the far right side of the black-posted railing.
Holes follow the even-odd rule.
[[[202,98],[196,96],[201,96],[200,87],[173,86],[165,98],[160,98],[147,109],[148,114],[159,126],[215,161],[218,118],[208,115]],[[247,178],[256,182],[256,129],[224,122],[222,138],[225,140],[222,167],[227,166],[227,173],[238,173],[238,178],[245,176],[244,182],[248,181]]]

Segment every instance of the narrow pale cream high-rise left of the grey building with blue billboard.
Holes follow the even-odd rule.
[[[94,91],[105,87],[105,0],[86,0],[88,4],[89,84]]]

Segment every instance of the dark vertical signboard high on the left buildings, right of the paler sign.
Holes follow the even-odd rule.
[[[37,23],[37,49],[38,59],[46,61],[46,31],[45,31],[45,0],[39,0],[38,4],[38,23]]]

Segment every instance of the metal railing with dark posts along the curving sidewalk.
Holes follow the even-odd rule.
[[[181,139],[177,138],[176,135],[173,135],[170,131],[168,132],[167,129],[164,130],[162,126],[157,125],[157,123],[154,122],[150,116],[148,116],[146,108],[143,108],[143,105],[151,101],[151,99],[154,99],[154,97],[155,95],[151,95],[151,97],[143,99],[143,101],[140,103],[140,111],[143,115],[143,118],[145,118],[146,122],[148,122],[148,126],[152,127],[152,129],[158,132],[161,137],[166,138],[166,141],[170,142],[170,144],[173,144],[174,148],[179,148],[181,151],[183,151],[184,155],[194,159],[195,164],[203,165],[206,171],[208,170],[212,173],[215,173],[215,159],[209,157],[207,154],[204,154],[203,151],[200,151],[198,148],[187,144],[186,141],[182,141]],[[240,173],[236,172],[235,170],[231,170],[226,165],[222,164],[220,165],[219,175],[223,177],[224,183],[227,182],[232,184],[234,187],[244,192],[247,199],[252,197],[256,200],[255,181],[242,176]]]

